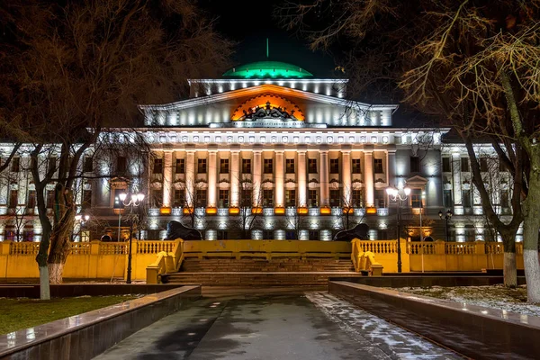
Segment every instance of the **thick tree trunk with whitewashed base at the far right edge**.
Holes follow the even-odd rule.
[[[540,303],[540,264],[538,263],[538,228],[540,225],[540,163],[531,158],[529,191],[523,221],[523,262],[527,279],[527,301]]]

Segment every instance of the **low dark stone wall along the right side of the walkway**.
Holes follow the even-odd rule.
[[[540,354],[537,317],[347,282],[329,282],[329,292],[474,359]]]

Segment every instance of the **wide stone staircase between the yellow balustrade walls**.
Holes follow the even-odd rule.
[[[326,287],[329,277],[360,276],[350,260],[327,258],[223,259],[187,258],[169,283],[203,286],[316,286]]]

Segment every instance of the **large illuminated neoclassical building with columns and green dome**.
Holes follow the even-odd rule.
[[[126,191],[146,193],[141,238],[164,238],[167,222],[179,220],[209,240],[330,240],[357,223],[369,225],[369,238],[387,239],[396,237],[399,206],[401,237],[490,237],[468,157],[460,144],[445,142],[448,129],[395,126],[396,104],[347,100],[347,79],[316,78],[283,62],[250,63],[189,85],[187,99],[140,106],[145,126],[137,131],[152,149],[148,162],[127,154],[106,166],[119,176],[81,180],[81,213],[104,225],[88,233],[77,224],[74,238],[115,238],[115,202]],[[2,145],[4,153],[9,147]],[[506,179],[490,172],[498,162],[489,148],[485,154],[486,176]],[[82,169],[103,170],[87,158]],[[11,166],[10,174],[15,170],[23,171]],[[504,213],[508,184],[493,182]],[[392,202],[389,186],[407,186],[410,195]],[[33,216],[32,206],[27,175],[0,184],[0,237],[13,239],[14,209]],[[448,210],[451,219],[439,218]],[[125,220],[120,224],[125,232]],[[25,227],[39,240],[37,219]]]

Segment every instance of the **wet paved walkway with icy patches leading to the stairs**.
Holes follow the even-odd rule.
[[[458,359],[325,292],[205,298],[95,359]]]

